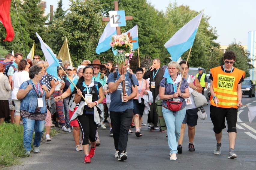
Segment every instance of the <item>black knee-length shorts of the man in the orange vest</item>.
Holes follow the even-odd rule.
[[[236,132],[237,108],[220,108],[211,105],[210,117],[213,123],[213,131],[216,134],[221,133],[226,128],[225,118],[227,120],[227,132]]]

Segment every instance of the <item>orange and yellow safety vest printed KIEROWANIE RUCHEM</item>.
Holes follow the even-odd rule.
[[[218,107],[221,108],[237,108],[237,85],[240,79],[245,77],[245,72],[234,68],[232,73],[225,73],[222,66],[211,69],[213,77],[212,87],[215,96],[219,99]],[[211,105],[216,106],[213,102],[212,96],[210,97]]]

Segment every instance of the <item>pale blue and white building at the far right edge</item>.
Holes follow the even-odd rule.
[[[251,75],[249,79],[251,80],[256,80],[256,61],[254,61],[256,59],[255,43],[256,43],[256,31],[249,31],[248,32],[248,53],[249,53],[249,58],[251,59],[251,64],[255,67],[249,71]]]

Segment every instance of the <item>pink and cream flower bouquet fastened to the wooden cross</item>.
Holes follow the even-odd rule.
[[[126,34],[113,35],[110,46],[117,50],[114,62],[118,65],[124,64],[126,57],[132,58],[133,56],[133,43],[130,42],[129,36]]]

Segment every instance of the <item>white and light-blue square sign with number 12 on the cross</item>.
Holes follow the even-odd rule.
[[[122,11],[109,11],[110,27],[126,26],[125,13]]]

